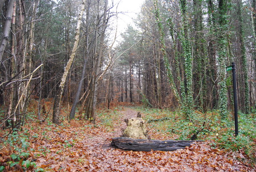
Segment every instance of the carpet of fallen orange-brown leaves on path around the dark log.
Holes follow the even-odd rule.
[[[124,151],[110,147],[111,139],[122,134],[126,127],[124,118],[136,117],[137,112],[122,107],[116,110],[112,123],[92,125],[88,121],[73,120],[56,126],[47,122],[31,122],[24,128],[28,131],[30,155],[28,160],[36,163],[36,168],[23,170],[36,171],[93,171],[93,172],[184,172],[184,171],[256,171],[246,162],[244,154],[213,149],[211,141],[196,142],[185,149],[162,152]],[[142,114],[143,118],[143,114]],[[157,131],[149,131],[151,139],[172,140]],[[2,143],[1,143],[2,144]],[[21,144],[22,145],[22,144]],[[7,166],[10,155],[15,153],[6,145],[0,147],[0,166],[4,171],[22,171],[22,164]],[[9,158],[9,159],[8,159]],[[38,170],[39,171],[39,170]]]

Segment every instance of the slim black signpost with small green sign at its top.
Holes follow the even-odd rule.
[[[236,95],[236,64],[232,62],[232,66],[228,66],[226,71],[232,70],[233,90],[234,90],[234,115],[235,115],[235,135],[238,135],[238,115],[237,115],[237,95]]]

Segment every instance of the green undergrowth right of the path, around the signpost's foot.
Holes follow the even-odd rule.
[[[149,129],[157,129],[170,139],[191,140],[194,135],[196,140],[213,140],[212,147],[245,152],[255,163],[256,114],[238,113],[239,134],[235,136],[232,114],[226,120],[220,120],[218,110],[206,114],[195,111],[190,122],[177,111],[144,107],[134,109],[142,113]]]

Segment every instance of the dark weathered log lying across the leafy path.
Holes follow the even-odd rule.
[[[198,140],[201,141],[201,140]],[[172,151],[190,146],[195,140],[144,140],[128,137],[112,138],[111,145],[123,150],[134,151]]]

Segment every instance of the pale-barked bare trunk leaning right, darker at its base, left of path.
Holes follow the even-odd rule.
[[[74,60],[74,57],[76,55],[76,50],[78,47],[78,42],[79,42],[79,35],[80,35],[80,26],[81,26],[81,20],[82,20],[82,16],[84,14],[84,9],[85,9],[85,2],[86,0],[83,0],[82,2],[82,6],[81,6],[81,10],[78,16],[78,22],[77,22],[77,26],[76,26],[76,33],[75,33],[75,42],[74,42],[74,46],[72,49],[72,53],[70,55],[70,58],[68,60],[68,63],[66,65],[66,68],[64,70],[64,73],[62,75],[62,79],[60,81],[60,85],[58,86],[58,90],[57,90],[57,95],[54,98],[54,106],[53,106],[53,115],[52,115],[52,122],[55,124],[59,124],[59,116],[60,116],[60,103],[61,103],[61,96],[63,93],[63,88],[64,88],[64,84],[66,82],[66,78],[68,75],[68,72],[70,70],[71,64]]]

